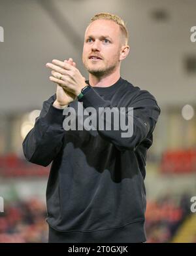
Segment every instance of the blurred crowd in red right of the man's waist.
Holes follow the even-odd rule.
[[[180,200],[165,196],[157,201],[148,202],[146,207],[148,243],[171,242],[190,213],[189,198],[189,195],[184,194]]]

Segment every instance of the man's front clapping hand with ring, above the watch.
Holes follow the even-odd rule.
[[[57,82],[57,84],[60,84],[65,90],[72,92],[76,96],[78,96],[82,88],[87,85],[85,82],[86,79],[82,77],[80,71],[67,62],[52,60],[52,63],[47,63],[46,67],[52,69],[50,81]]]

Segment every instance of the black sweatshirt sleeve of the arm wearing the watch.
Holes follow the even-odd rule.
[[[95,108],[99,120],[103,120],[104,124],[106,124],[108,120],[106,120],[106,115],[103,109],[107,107],[112,109],[114,107],[115,112],[116,106],[112,106],[110,101],[104,100],[97,92],[95,92],[95,90],[93,90],[93,88],[86,92],[79,101],[83,103],[84,109],[88,107]],[[129,107],[133,109],[131,112],[131,115],[133,116],[131,124],[128,122],[129,117],[131,116]],[[131,136],[125,135],[126,130],[124,130],[124,128],[122,129],[120,124],[118,125],[118,130],[106,130],[106,126],[104,126],[104,129],[100,129],[98,126],[98,119],[97,132],[99,132],[103,139],[113,143],[120,151],[135,151],[136,147],[154,131],[155,124],[160,114],[160,109],[154,96],[146,90],[140,90],[137,97],[135,97],[133,101],[130,101],[130,103],[125,106],[125,109],[124,119],[126,120],[126,124],[128,124],[127,126],[132,127]],[[114,122],[114,119],[111,119],[111,122]],[[114,127],[113,124],[111,124],[111,127]],[[129,128],[127,128],[127,134],[129,134],[128,130],[131,130]]]

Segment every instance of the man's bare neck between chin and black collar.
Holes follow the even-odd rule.
[[[89,75],[89,83],[91,86],[106,87],[115,84],[120,79],[120,69],[116,69],[114,73],[105,75],[103,77],[96,77],[95,75]]]

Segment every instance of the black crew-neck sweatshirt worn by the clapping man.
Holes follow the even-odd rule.
[[[120,77],[112,86],[91,87],[69,105],[77,110],[82,103],[97,112],[99,107],[133,107],[131,137],[122,137],[120,129],[67,131],[55,100],[56,94],[44,101],[23,142],[29,162],[52,162],[46,221],[67,242],[146,241],[146,151],[160,114],[154,96]]]

